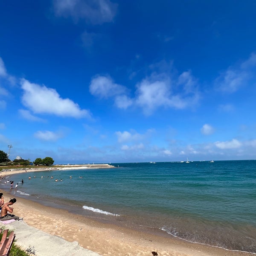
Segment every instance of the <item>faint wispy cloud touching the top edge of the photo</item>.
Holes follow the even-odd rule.
[[[92,24],[113,21],[117,5],[110,0],[54,0],[53,7],[58,17],[72,17],[74,22],[85,20]]]

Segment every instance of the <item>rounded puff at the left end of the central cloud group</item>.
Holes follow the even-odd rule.
[[[122,85],[115,84],[110,77],[96,76],[90,82],[90,93],[99,98],[111,98],[126,92]]]

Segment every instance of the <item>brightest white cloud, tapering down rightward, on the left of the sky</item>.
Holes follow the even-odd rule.
[[[21,80],[23,105],[34,113],[47,113],[56,116],[90,117],[90,112],[80,109],[70,99],[62,99],[55,89],[33,84],[26,79]]]

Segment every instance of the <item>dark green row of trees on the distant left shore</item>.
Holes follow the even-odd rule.
[[[6,154],[4,151],[0,150],[0,163],[3,162],[12,162],[12,164],[20,164],[22,166],[27,166],[30,163],[33,163],[35,166],[40,166],[40,165],[45,165],[45,166],[50,166],[53,165],[54,160],[52,157],[45,157],[45,158],[36,158],[34,162],[31,162],[30,159],[15,159],[13,161],[9,160],[8,154]]]

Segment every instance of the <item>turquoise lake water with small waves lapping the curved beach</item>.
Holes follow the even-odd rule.
[[[24,180],[11,191],[17,197],[99,221],[256,253],[256,160],[114,165],[119,167],[7,179]],[[4,181],[0,188],[9,191]]]

